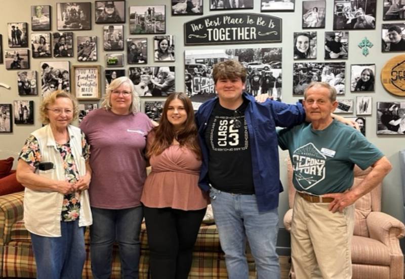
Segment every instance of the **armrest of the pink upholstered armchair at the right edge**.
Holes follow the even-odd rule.
[[[366,222],[370,238],[382,242],[389,247],[391,253],[394,252],[393,247],[399,248],[398,239],[405,236],[405,225],[401,221],[384,212],[374,211],[367,216]]]

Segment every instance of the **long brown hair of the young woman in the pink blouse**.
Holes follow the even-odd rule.
[[[179,99],[183,102],[184,109],[187,113],[187,120],[183,127],[175,131],[173,125],[168,120],[168,108],[172,100]],[[166,148],[172,145],[173,139],[179,142],[180,146],[186,146],[195,153],[197,158],[201,158],[201,149],[198,145],[197,126],[194,122],[194,110],[191,100],[183,92],[173,92],[166,99],[163,112],[161,114],[159,126],[154,127],[151,132],[154,132],[155,138],[146,152],[147,157],[159,155]]]

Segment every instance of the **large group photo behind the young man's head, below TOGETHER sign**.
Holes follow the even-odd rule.
[[[281,100],[281,47],[193,49],[185,51],[185,92],[194,109],[216,97],[212,69],[218,62],[238,60],[247,69],[246,92],[257,96],[268,94]]]

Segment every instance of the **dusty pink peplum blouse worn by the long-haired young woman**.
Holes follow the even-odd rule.
[[[150,165],[152,171],[141,197],[145,206],[181,210],[207,207],[208,194],[198,187],[201,160],[190,149],[171,145],[159,155],[151,156]]]

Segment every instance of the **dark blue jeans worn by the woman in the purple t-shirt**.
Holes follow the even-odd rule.
[[[111,275],[112,246],[116,241],[121,259],[121,278],[138,278],[142,206],[126,209],[92,207],[90,255],[95,279]]]

